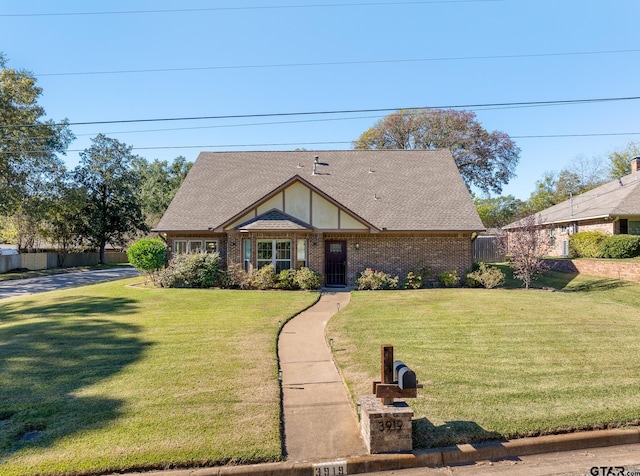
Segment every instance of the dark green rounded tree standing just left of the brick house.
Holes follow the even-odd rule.
[[[80,153],[74,177],[85,197],[82,234],[100,249],[105,262],[107,243],[123,245],[128,236],[148,231],[137,189],[140,177],[132,169],[132,147],[98,134]]]

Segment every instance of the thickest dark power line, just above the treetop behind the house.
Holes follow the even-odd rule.
[[[175,122],[175,121],[201,121],[201,120],[221,120],[221,119],[249,119],[263,117],[293,117],[293,116],[318,116],[318,115],[334,115],[334,114],[364,114],[378,112],[394,112],[399,110],[420,111],[429,109],[478,109],[493,107],[539,107],[539,106],[566,106],[576,104],[593,104],[602,102],[618,102],[618,101],[635,101],[640,96],[612,97],[612,98],[589,98],[589,99],[563,99],[551,101],[523,101],[523,102],[503,102],[503,103],[484,103],[484,104],[462,104],[462,105],[439,105],[439,106],[413,106],[413,107],[394,107],[394,108],[375,108],[375,109],[344,109],[329,111],[301,111],[301,112],[278,112],[264,114],[229,114],[219,116],[193,116],[193,117],[164,117],[152,119],[119,119],[112,121],[84,121],[84,122],[68,122],[68,126],[89,126],[104,124],[133,124],[147,122]],[[47,124],[47,126],[64,125],[63,123]],[[41,124],[15,124],[10,126],[0,126],[1,129],[16,127],[40,127]]]

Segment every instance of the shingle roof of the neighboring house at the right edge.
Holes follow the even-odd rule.
[[[604,217],[640,215],[640,173],[612,180],[535,215],[536,223],[567,223]],[[519,222],[504,228],[517,228]]]

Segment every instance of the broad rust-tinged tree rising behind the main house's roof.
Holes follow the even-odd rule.
[[[356,149],[449,149],[467,186],[501,193],[515,176],[520,149],[504,132],[485,130],[471,111],[400,110],[353,143]]]

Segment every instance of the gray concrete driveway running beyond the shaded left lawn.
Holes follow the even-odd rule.
[[[37,278],[10,279],[0,282],[0,299],[44,293],[85,284],[112,281],[114,279],[131,278],[138,275],[138,271],[132,267],[120,266],[92,271],[78,271],[77,273],[51,274]]]

